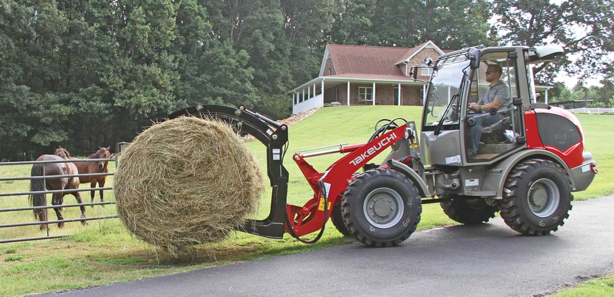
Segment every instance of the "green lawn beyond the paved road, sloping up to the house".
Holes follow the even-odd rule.
[[[367,141],[373,133],[373,125],[380,118],[403,117],[419,122],[420,107],[367,106],[324,108],[290,127],[290,145],[285,166],[290,173],[288,201],[302,206],[313,196],[298,166],[292,161],[292,153],[298,150],[332,144],[357,144]],[[597,160],[600,174],[591,187],[575,198],[590,199],[612,193],[614,190],[614,116],[579,115],[586,133],[587,150]],[[248,143],[254,155],[266,168],[265,150],[257,141]],[[319,171],[324,171],[341,155],[325,155],[310,158],[309,162]],[[379,156],[384,158],[384,154]],[[377,161],[377,160],[376,160]],[[110,164],[114,171],[115,164]],[[28,176],[31,166],[1,166],[0,176]],[[27,191],[29,181],[0,182],[0,193]],[[112,177],[107,180],[112,185]],[[82,187],[88,187],[88,184]],[[82,192],[84,201],[90,194]],[[50,200],[50,195],[49,198]],[[65,196],[64,204],[75,203],[72,196]],[[105,201],[114,199],[107,191]],[[98,193],[96,200],[99,201]],[[27,198],[2,197],[0,208],[27,206]],[[50,204],[50,203],[49,203]],[[260,212],[256,218],[264,218],[270,206],[270,189],[263,194]],[[115,214],[115,206],[87,207],[88,217]],[[55,219],[53,211],[50,219]],[[65,208],[64,217],[79,217],[78,208]],[[573,214],[571,216],[573,219]],[[31,211],[0,213],[0,224],[32,222]],[[423,207],[419,230],[436,226],[453,225],[454,222],[441,212],[438,204]],[[63,239],[31,241],[17,244],[0,244],[0,295],[25,295],[46,291],[83,288],[111,282],[141,279],[142,277],[172,274],[214,265],[254,260],[307,250],[322,249],[333,245],[354,242],[341,236],[332,223],[328,223],[321,241],[305,245],[291,236],[284,239],[266,239],[245,233],[233,233],[226,241],[198,249],[192,255],[173,258],[160,249],[134,239],[117,219],[91,221],[87,226],[67,223],[64,230],[51,226],[50,234],[74,234]],[[42,236],[37,226],[0,229],[0,239]],[[313,237],[306,236],[307,238]],[[408,239],[408,240],[411,240]]]

